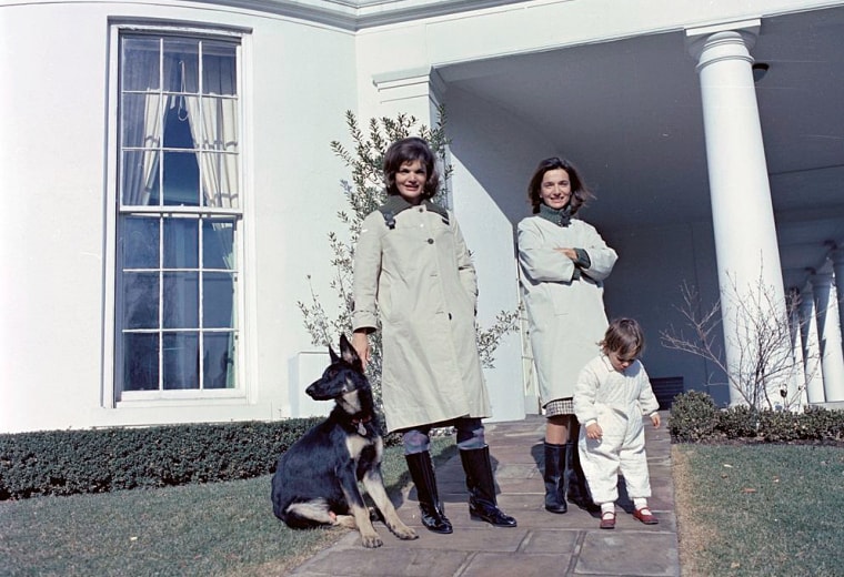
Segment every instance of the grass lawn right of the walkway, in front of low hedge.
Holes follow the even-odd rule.
[[[682,574],[844,575],[844,448],[674,445]]]

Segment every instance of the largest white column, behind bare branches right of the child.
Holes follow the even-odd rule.
[[[697,59],[703,124],[715,232],[721,311],[727,371],[740,377],[732,384],[730,404],[748,401],[746,383],[753,374],[760,331],[787,323],[785,294],[776,242],[774,211],[753,82],[753,58],[758,20],[686,31],[689,49]],[[791,363],[787,338],[775,345],[773,363]],[[765,384],[778,398],[787,377],[778,374]]]

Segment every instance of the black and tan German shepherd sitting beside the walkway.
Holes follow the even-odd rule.
[[[305,392],[334,408],[279,457],[272,477],[272,508],[292,528],[340,525],[356,528],[364,547],[383,543],[370,519],[358,482],[375,503],[384,523],[400,539],[415,539],[384,489],[384,443],[363,363],[340,336],[340,356],[329,346],[331,364]],[[350,515],[351,513],[351,515]]]

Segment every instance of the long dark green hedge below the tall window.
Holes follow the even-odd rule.
[[[319,421],[0,435],[0,500],[267,475]]]

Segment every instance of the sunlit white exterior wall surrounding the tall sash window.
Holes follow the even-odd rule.
[[[356,108],[354,38],[280,17],[188,6],[0,6],[0,173],[3,199],[14,207],[0,227],[0,432],[291,414],[291,363],[313,350],[297,301],[310,296],[308,274],[318,290],[328,286],[331,271],[319,263],[331,256],[326,234],[343,206],[340,180],[348,174],[329,143],[345,133],[344,111]],[[105,222],[113,211],[108,34],[110,20],[130,18],[252,30],[242,94],[247,398],[130,408],[103,402],[111,387],[101,368],[111,354],[103,344],[110,341],[103,334]],[[321,296],[330,308],[330,291]]]

